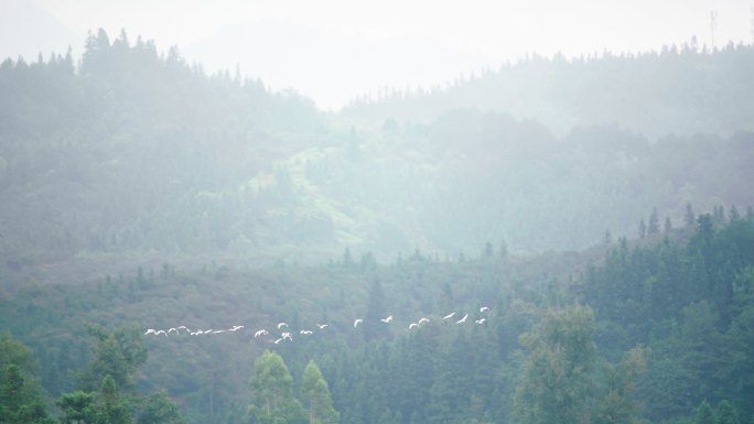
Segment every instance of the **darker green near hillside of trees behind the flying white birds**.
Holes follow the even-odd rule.
[[[28,287],[0,318],[32,347],[41,369],[29,372],[52,399],[101,396],[110,370],[131,414],[146,402],[137,393],[165,389],[192,423],[265,422],[269,384],[288,387],[293,403],[279,416],[299,422],[311,360],[341,422],[685,423],[707,401],[747,423],[753,269],[754,213],[731,209],[640,242],[528,260],[491,249],[387,267],[349,256],[281,270],[165,264]],[[188,329],[141,335],[180,325]],[[212,330],[190,334],[198,329]],[[274,343],[287,330],[292,340]],[[255,363],[265,350],[284,363]]]

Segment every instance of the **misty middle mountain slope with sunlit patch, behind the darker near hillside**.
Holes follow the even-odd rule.
[[[725,57],[704,59],[732,73]],[[629,70],[603,58],[574,75],[607,65]],[[0,251],[13,280],[35,263],[128,252],[269,264],[345,248],[380,261],[473,257],[486,243],[578,249],[606,230],[637,233],[654,208],[678,226],[688,204],[754,203],[751,132],[558,135],[474,108],[354,120],[261,81],[207,77],[125,33],[89,37],[78,69],[71,57],[6,61],[0,84]]]

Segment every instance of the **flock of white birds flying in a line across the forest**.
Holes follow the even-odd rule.
[[[488,311],[489,311],[489,307],[487,307],[487,306],[482,306],[480,308],[481,314],[485,314]],[[452,312],[452,313],[443,316],[442,320],[455,322],[455,324],[464,324],[464,323],[466,323],[466,319],[468,318],[468,314],[467,313],[464,314],[461,319],[455,319],[454,317],[455,317],[455,312]],[[385,323],[385,324],[390,324],[390,323],[392,323],[392,315],[388,315],[387,317],[380,318],[379,320]],[[426,324],[429,322],[430,322],[429,318],[421,317],[416,323],[409,324],[407,330],[408,331],[413,330],[414,328],[419,328],[422,326],[422,324]],[[484,318],[484,317],[482,317],[480,319],[474,319],[474,323],[480,324],[480,325],[484,324],[485,322],[486,322],[486,318]],[[354,319],[354,328],[357,328],[363,323],[364,323],[364,319],[362,319],[362,318]],[[327,328],[327,326],[328,326],[327,324],[316,324],[316,327],[320,331]],[[165,329],[149,328],[147,331],[144,331],[144,336],[154,335],[154,336],[169,337],[171,333],[175,333],[176,336],[180,336],[182,334],[181,333],[182,330],[185,331],[185,333],[183,333],[184,335],[203,336],[203,335],[215,335],[215,334],[223,334],[223,333],[236,333],[236,331],[244,330],[245,328],[246,327],[243,325],[234,325],[233,328],[225,328],[225,329],[213,329],[213,328],[211,328],[211,329],[191,330],[185,325],[182,325],[179,327],[172,327],[172,328],[166,329],[166,330]],[[293,334],[291,331],[289,331],[288,329],[289,329],[288,323],[281,322],[281,323],[278,323],[278,325],[277,325],[277,330],[278,330],[278,333],[280,333],[280,337],[270,336],[269,330],[261,328],[261,329],[258,329],[254,333],[254,338],[259,339],[259,340],[266,340],[269,343],[273,343],[276,345],[278,345],[284,340],[293,341]],[[299,331],[299,334],[301,336],[310,336],[310,335],[314,334],[314,330],[313,329],[301,329]]]

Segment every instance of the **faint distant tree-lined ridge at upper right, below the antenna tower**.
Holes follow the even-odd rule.
[[[536,119],[559,134],[575,127],[618,124],[651,139],[667,133],[754,129],[754,46],[714,52],[666,47],[659,53],[552,59],[532,57],[459,79],[446,88],[356,100],[346,117],[431,121],[457,107]]]

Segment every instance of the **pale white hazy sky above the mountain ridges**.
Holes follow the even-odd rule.
[[[0,0],[2,13],[12,20],[18,4],[30,1]],[[694,35],[700,43],[709,44],[711,10],[718,12],[717,45],[730,40],[751,43],[751,8],[754,7],[754,0],[36,0],[36,3],[79,36],[100,26],[115,36],[125,28],[132,37],[141,34],[155,40],[161,50],[177,44],[188,59],[203,62],[207,69],[235,68],[239,64],[243,72],[260,76],[274,88],[294,87],[328,108],[360,91],[386,85],[441,84],[460,73],[481,66],[494,68],[503,61],[515,61],[531,52],[551,55],[560,51],[571,56],[604,50],[658,50],[665,44],[688,42]],[[249,26],[265,28],[269,36],[259,37]],[[234,28],[247,30],[233,32]],[[277,28],[293,29],[303,37],[322,36],[323,42],[310,48],[331,63],[302,63],[290,57],[287,51],[295,39],[276,48],[277,41],[286,39],[274,33]],[[261,40],[236,40],[231,46],[213,45],[227,43],[229,33],[236,37],[254,34]],[[328,52],[328,44],[337,37],[345,44],[335,53]],[[362,65],[354,65],[348,62],[349,54],[343,54],[346,45],[359,50],[383,46],[383,55],[387,54],[386,46],[394,51],[402,45],[431,46],[433,56],[426,54],[421,59],[411,61],[410,52],[387,54],[384,62],[408,59],[405,64],[374,66],[363,62],[364,52],[359,51],[359,55],[353,56],[360,57]],[[255,55],[250,52],[254,50],[265,53]],[[395,70],[396,66],[400,72]],[[338,75],[344,68],[358,72],[358,77],[344,80]]]

